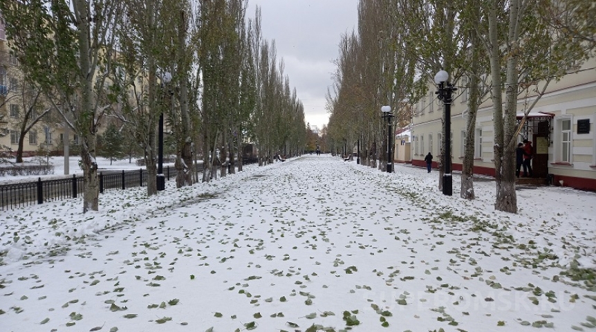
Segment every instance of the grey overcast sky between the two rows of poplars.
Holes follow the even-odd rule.
[[[290,89],[304,104],[306,122],[319,129],[329,114],[325,94],[332,84],[342,34],[357,28],[358,0],[248,0],[248,17],[261,7],[263,38],[275,41]]]

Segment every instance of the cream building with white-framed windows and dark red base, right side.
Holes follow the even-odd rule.
[[[559,82],[551,82],[546,93],[531,110],[526,121],[518,113],[521,125],[517,140],[533,142],[534,177],[545,183],[596,190],[596,59],[592,58],[579,68],[570,67]],[[463,82],[462,82],[463,81]],[[460,88],[451,105],[452,165],[460,171],[466,137],[467,83],[465,78],[456,82]],[[411,163],[425,166],[429,151],[440,156],[444,138],[441,137],[443,103],[435,95],[434,82],[429,93],[416,104],[411,130]],[[537,98],[530,91],[518,99],[518,110],[532,104]],[[478,109],[474,124],[474,174],[494,176],[493,142],[494,122],[492,100],[488,98]],[[438,158],[437,158],[438,159]]]

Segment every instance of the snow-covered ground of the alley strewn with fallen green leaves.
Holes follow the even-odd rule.
[[[519,187],[519,213],[507,214],[493,208],[492,178],[475,178],[466,201],[460,174],[444,196],[438,172],[410,165],[387,174],[308,155],[244,169],[149,198],[105,192],[98,212],[82,214],[81,199],[0,211],[0,330],[593,323],[594,280],[560,275],[595,267],[593,192]]]

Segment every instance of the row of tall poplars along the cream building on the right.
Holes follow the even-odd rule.
[[[593,3],[585,0],[362,0],[358,30],[343,37],[335,86],[328,93],[330,138],[351,145],[360,138],[364,154],[371,155],[367,149],[384,137],[380,107],[392,107],[398,127],[410,124],[413,104],[444,69],[450,82],[469,90],[460,194],[474,199],[476,111],[492,98],[495,208],[516,213],[518,96],[537,95],[523,109],[527,115],[548,84],[566,75],[569,64],[593,55],[595,14]],[[442,156],[441,163],[451,158]]]

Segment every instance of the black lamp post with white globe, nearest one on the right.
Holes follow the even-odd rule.
[[[449,83],[449,73],[439,71],[435,75],[439,100],[445,104],[445,173],[443,174],[443,194],[451,196],[453,194],[453,178],[451,176],[451,102],[453,102],[453,92],[457,90],[453,84]]]

